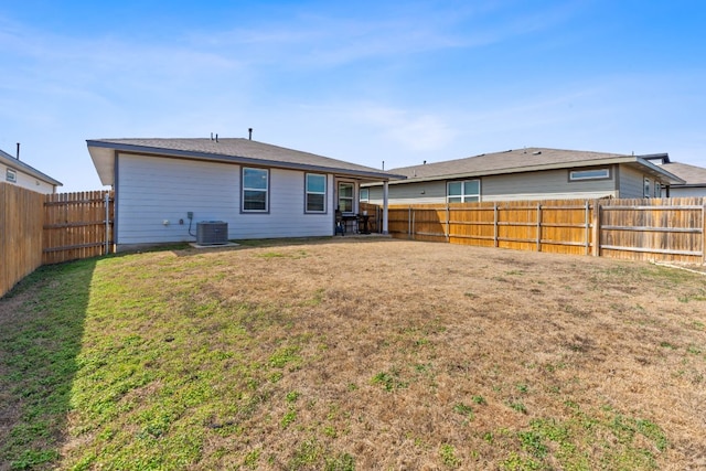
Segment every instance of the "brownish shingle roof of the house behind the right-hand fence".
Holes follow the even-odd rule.
[[[642,159],[640,156],[545,148],[507,150],[504,152],[480,154],[466,159],[404,167],[399,169],[392,169],[389,171],[392,173],[407,176],[407,180],[391,182],[391,184],[398,184],[415,181],[486,176],[504,173],[607,165],[613,163],[625,163],[639,167],[643,172],[654,176],[660,176],[671,183],[683,183],[683,181],[676,175],[665,171],[660,165],[655,165],[654,163]]]

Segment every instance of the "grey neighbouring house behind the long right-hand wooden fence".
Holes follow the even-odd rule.
[[[683,180],[639,157],[527,148],[389,170],[389,204],[474,201],[654,197]],[[362,201],[381,203],[381,183]]]

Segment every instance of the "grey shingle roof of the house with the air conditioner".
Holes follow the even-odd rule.
[[[88,151],[104,185],[115,184],[115,151],[156,157],[232,162],[280,169],[332,172],[371,181],[400,178],[391,172],[357,165],[244,138],[226,139],[96,139]]]

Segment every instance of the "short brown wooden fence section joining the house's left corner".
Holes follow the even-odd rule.
[[[47,194],[43,264],[95,257],[113,250],[111,191]]]

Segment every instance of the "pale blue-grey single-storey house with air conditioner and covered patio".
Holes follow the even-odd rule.
[[[115,190],[117,250],[194,240],[202,221],[226,222],[229,239],[333,235],[338,208],[359,212],[361,183],[395,178],[249,139],[87,144],[100,181]]]

